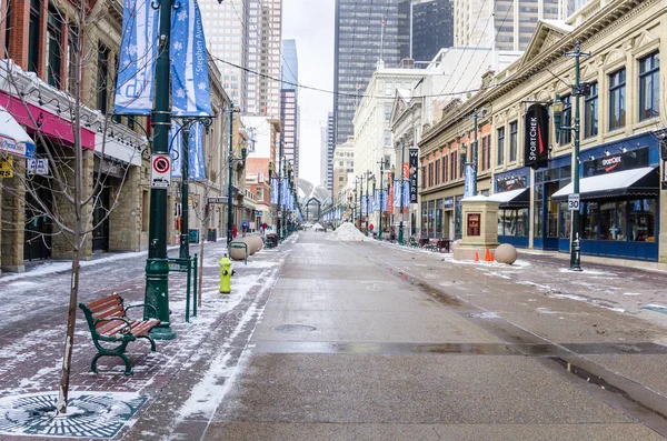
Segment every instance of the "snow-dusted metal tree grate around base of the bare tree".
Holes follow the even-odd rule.
[[[113,438],[143,405],[147,397],[131,392],[71,392],[68,413],[58,415],[57,392],[0,399],[0,434]]]

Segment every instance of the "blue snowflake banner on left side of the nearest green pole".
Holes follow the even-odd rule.
[[[150,114],[158,57],[158,11],[150,0],[125,0],[113,113]]]

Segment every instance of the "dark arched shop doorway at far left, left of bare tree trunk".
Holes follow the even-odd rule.
[[[44,214],[47,208],[51,211],[51,189],[47,179],[36,176],[32,178],[33,193],[26,191],[26,232],[23,238],[23,259],[42,260],[51,258],[51,237],[53,224],[51,218]]]

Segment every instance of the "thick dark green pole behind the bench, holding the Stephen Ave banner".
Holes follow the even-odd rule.
[[[170,32],[171,32],[171,0],[160,1],[160,38],[158,59],[156,62],[156,101],[151,114],[153,127],[153,152],[169,154],[169,130],[171,129],[171,84],[170,84]],[[160,324],[151,330],[158,340],[172,340],[176,332],[169,323],[169,261],[167,259],[167,190],[150,189],[150,218],[148,259],[146,260],[146,292],[145,303],[157,310]],[[145,318],[149,309],[143,310]]]

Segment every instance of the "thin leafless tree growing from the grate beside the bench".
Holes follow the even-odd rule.
[[[69,60],[69,67],[66,70],[68,74],[67,79],[61,79],[69,82],[67,89],[69,94],[63,91],[58,92],[58,109],[63,113],[64,117],[69,117],[71,121],[71,134],[72,146],[63,147],[56,142],[52,142],[42,131],[39,119],[36,119],[28,107],[30,93],[26,93],[22,87],[19,84],[19,72],[14,68],[13,63],[7,62],[7,69],[4,72],[0,72],[6,77],[7,82],[13,89],[12,96],[19,97],[21,103],[26,110],[26,114],[29,116],[31,127],[34,129],[36,140],[43,148],[41,154],[48,160],[49,178],[40,178],[34,173],[26,172],[20,161],[14,161],[12,164],[14,172],[14,180],[17,184],[9,187],[3,184],[0,180],[0,187],[3,191],[8,191],[14,198],[22,198],[27,207],[29,214],[26,219],[27,222],[37,219],[38,217],[48,217],[53,224],[51,232],[41,231],[34,240],[41,240],[44,244],[50,242],[49,237],[58,237],[59,241],[63,241],[67,244],[68,252],[71,252],[71,275],[70,275],[70,293],[69,293],[69,305],[67,317],[67,331],[64,337],[63,347],[63,359],[62,370],[59,387],[59,397],[56,404],[59,413],[67,413],[67,400],[69,394],[70,385],[70,373],[71,373],[71,359],[73,348],[73,335],[77,319],[77,304],[79,298],[79,279],[80,279],[80,260],[82,249],[87,243],[87,239],[92,234],[93,230],[99,227],[102,222],[107,221],[111,211],[119,204],[120,191],[116,192],[116,196],[110,201],[109,208],[104,210],[102,218],[93,221],[94,208],[100,203],[100,189],[108,186],[107,176],[102,172],[101,168],[92,176],[92,184],[89,184],[89,176],[84,174],[84,147],[82,144],[82,76],[84,69],[93,69],[97,62],[97,50],[87,50],[82,44],[88,38],[84,38],[84,33],[89,31],[89,28],[93,27],[93,20],[100,20],[101,14],[108,13],[108,11],[97,4],[80,0],[76,8],[76,18],[70,16],[72,20],[70,24],[70,42],[68,47],[59,46],[61,54]],[[0,11],[0,20],[7,21],[7,16],[2,14],[4,11]],[[60,21],[66,22],[66,17],[58,11]],[[11,29],[10,29],[11,32]],[[54,42],[50,41],[50,44]],[[9,60],[9,51],[4,46],[1,47],[3,53],[1,53],[7,60]],[[60,77],[60,72],[57,72]],[[113,88],[107,86],[104,81],[101,86],[106,92],[110,96],[113,93]],[[39,89],[39,84],[38,84]],[[92,90],[91,94],[94,94],[99,90]],[[40,101],[41,101],[41,92]],[[90,121],[89,121],[90,122]],[[100,161],[104,160],[104,151],[107,144],[107,132],[110,126],[110,114],[104,114],[99,121],[99,131],[101,132],[101,147],[96,149],[99,154]],[[138,144],[138,143],[137,143]],[[137,151],[137,154],[140,152]],[[7,159],[4,156],[3,159]],[[88,160],[91,160],[88,157]],[[123,173],[119,188],[126,183],[129,167],[122,167]],[[52,203],[52,199],[57,198],[61,203]],[[26,228],[24,224],[8,225],[9,228]]]

